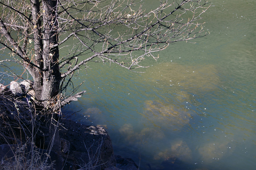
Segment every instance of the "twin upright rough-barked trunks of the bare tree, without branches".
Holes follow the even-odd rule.
[[[39,4],[38,0],[34,0],[35,4]],[[36,5],[35,9],[38,7]],[[59,85],[61,75],[59,72],[59,49],[53,45],[58,43],[58,20],[57,20],[57,1],[42,0],[43,6],[43,42],[40,42],[41,33],[34,32],[34,37],[38,38],[35,44],[36,65],[42,68],[42,71],[35,68],[32,74],[34,78],[35,99],[37,103],[44,107],[48,107],[49,100],[59,93]],[[37,11],[39,14],[39,11]],[[36,16],[35,16],[36,17]],[[39,19],[35,24],[40,25]],[[37,39],[36,38],[36,39]],[[51,103],[51,106],[54,103]],[[49,106],[49,107],[51,107]]]

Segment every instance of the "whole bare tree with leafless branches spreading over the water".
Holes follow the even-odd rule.
[[[142,0],[1,0],[1,50],[11,51],[11,60],[33,77],[38,105],[61,107],[85,92],[61,94],[89,61],[136,71],[146,67],[144,59],[158,58],[154,52],[207,34],[200,22],[207,2],[157,3],[146,11]],[[69,53],[59,56],[60,48]]]

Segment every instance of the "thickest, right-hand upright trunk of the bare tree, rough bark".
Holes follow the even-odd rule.
[[[41,101],[47,101],[55,97],[59,92],[59,49],[53,47],[58,42],[58,20],[57,1],[43,0],[43,87],[40,97]]]

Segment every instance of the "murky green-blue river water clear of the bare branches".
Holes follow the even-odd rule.
[[[255,169],[256,1],[213,0],[203,20],[210,35],[170,45],[145,73],[92,63],[73,81],[93,94],[63,114],[82,109],[71,119],[105,127],[141,170]]]

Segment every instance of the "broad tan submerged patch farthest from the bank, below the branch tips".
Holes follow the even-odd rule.
[[[181,65],[177,63],[159,63],[151,66],[143,77],[155,86],[171,87],[189,92],[211,91],[220,83],[215,65]]]

